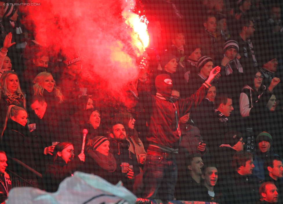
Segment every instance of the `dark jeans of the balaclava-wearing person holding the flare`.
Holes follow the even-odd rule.
[[[143,198],[174,200],[178,168],[176,156],[172,155],[170,159],[147,155],[144,166]]]

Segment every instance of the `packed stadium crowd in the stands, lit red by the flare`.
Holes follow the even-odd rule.
[[[140,203],[282,203],[282,2],[141,2],[150,44],[123,102],[0,2],[0,202],[7,168],[48,192],[81,171]]]

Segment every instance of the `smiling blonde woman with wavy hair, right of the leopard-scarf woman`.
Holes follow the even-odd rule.
[[[56,106],[56,104],[63,102],[64,97],[60,88],[56,86],[51,73],[47,71],[40,72],[33,80],[33,83],[34,95],[42,95],[47,105]]]

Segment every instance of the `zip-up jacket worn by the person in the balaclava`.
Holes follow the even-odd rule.
[[[174,104],[165,98],[162,99],[148,93],[139,94],[140,104],[145,104],[147,110],[151,113],[150,133],[147,140],[151,144],[177,149],[180,140],[177,131],[177,119],[179,115],[187,113],[191,107],[199,105],[206,95],[207,89],[207,87],[201,85],[191,97],[178,99]]]

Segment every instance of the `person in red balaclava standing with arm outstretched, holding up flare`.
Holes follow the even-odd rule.
[[[147,104],[151,113],[150,133],[147,137],[150,145],[144,166],[143,198],[154,199],[159,193],[160,199],[174,199],[177,181],[176,153],[181,140],[179,112],[188,113],[191,107],[196,107],[205,97],[206,89],[211,87],[210,82],[219,72],[220,67],[212,69],[208,79],[186,99],[175,100],[171,96],[173,83],[168,74],[160,74],[156,77],[156,95],[139,93],[140,104]],[[161,183],[166,185],[159,189]]]

